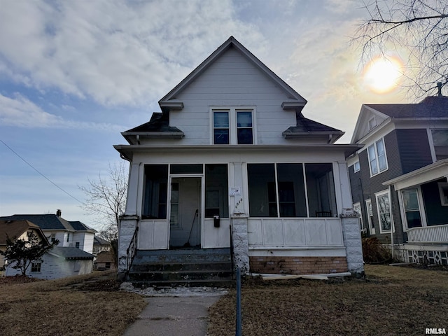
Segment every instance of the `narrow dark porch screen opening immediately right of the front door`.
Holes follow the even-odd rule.
[[[205,217],[229,217],[228,165],[205,165]]]

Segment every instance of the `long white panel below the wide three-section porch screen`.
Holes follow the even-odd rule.
[[[249,218],[249,246],[344,246],[339,218]]]

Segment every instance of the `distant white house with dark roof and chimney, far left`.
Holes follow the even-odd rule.
[[[80,221],[66,221],[61,217],[62,212],[42,215],[13,215],[3,216],[0,219],[8,221],[30,221],[42,229],[49,241],[59,240],[59,247],[73,246],[87,253],[93,253],[93,241],[96,230],[89,228]]]

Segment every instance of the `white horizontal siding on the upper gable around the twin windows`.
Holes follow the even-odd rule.
[[[283,111],[286,94],[236,50],[211,64],[179,97],[184,108],[170,112],[170,125],[185,133],[181,145],[210,144],[209,106],[255,106],[258,144],[286,144],[281,133],[295,126],[295,112]],[[154,143],[151,141],[151,143]]]

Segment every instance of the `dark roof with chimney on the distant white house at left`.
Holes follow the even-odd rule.
[[[13,216],[3,216],[0,219],[8,221],[30,221],[42,230],[63,230],[63,231],[86,231],[86,232],[97,232],[96,230],[89,228],[87,225],[80,221],[69,222],[64,218],[59,217],[54,214],[43,214],[43,215],[27,215],[27,214],[16,214]]]

